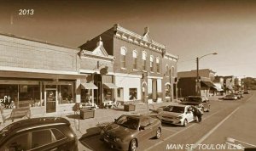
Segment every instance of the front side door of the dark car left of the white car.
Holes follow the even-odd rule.
[[[147,117],[143,117],[140,120],[139,137],[140,140],[148,139],[152,135],[152,125]]]

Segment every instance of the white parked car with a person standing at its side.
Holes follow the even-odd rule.
[[[175,104],[169,105],[158,114],[158,118],[163,123],[177,126],[187,126],[189,122],[195,120],[190,105]]]

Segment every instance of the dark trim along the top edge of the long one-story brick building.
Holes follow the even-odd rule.
[[[67,47],[67,46],[63,46],[63,45],[60,45],[60,44],[55,44],[55,43],[51,43],[51,42],[47,42],[47,41],[44,42],[42,40],[38,40],[38,39],[34,39],[34,38],[28,38],[28,37],[25,37],[25,36],[16,36],[14,34],[3,33],[3,32],[0,32],[0,35],[2,35],[2,36],[9,36],[9,37],[13,37],[13,38],[17,38],[17,39],[22,39],[22,40],[26,40],[26,41],[31,41],[31,42],[44,43],[44,44],[48,44],[48,45],[52,45],[52,46],[56,46],[56,47],[61,47],[61,48],[70,48],[70,49],[79,51],[78,48],[71,48],[71,47]]]

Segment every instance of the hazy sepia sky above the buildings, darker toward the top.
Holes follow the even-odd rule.
[[[33,9],[32,15],[19,15]],[[0,1],[0,32],[71,48],[119,24],[149,36],[179,57],[177,70],[256,77],[256,1],[37,0]]]

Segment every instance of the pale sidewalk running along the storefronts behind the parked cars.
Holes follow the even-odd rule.
[[[114,119],[117,119],[120,115],[125,114],[142,114],[147,115],[152,113],[154,110],[158,109],[161,106],[166,106],[175,102],[164,102],[164,103],[138,103],[136,104],[136,110],[126,112],[124,111],[124,106],[120,105],[116,109],[96,109],[95,117],[91,119],[81,120],[79,115],[74,115],[73,112],[65,113],[65,114],[55,114],[55,115],[43,115],[43,117],[47,116],[55,116],[55,117],[63,117],[70,121],[73,131],[76,133],[79,139],[83,139],[84,137],[92,137],[100,134],[102,131],[102,127],[107,126],[109,123],[113,122]],[[32,118],[39,117],[39,115],[32,115]],[[42,115],[41,115],[42,117]],[[16,119],[15,121],[22,120]],[[0,130],[2,130],[5,126],[11,124],[11,120],[7,120],[4,124],[0,125]],[[83,144],[79,142],[79,150],[84,150],[85,147]]]

